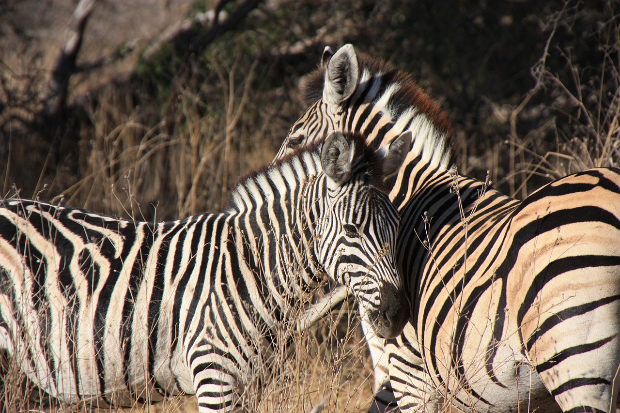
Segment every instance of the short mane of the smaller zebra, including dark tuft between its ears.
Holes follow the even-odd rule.
[[[363,180],[367,184],[381,190],[381,192],[387,193],[384,184],[383,161],[379,158],[376,150],[366,143],[365,137],[360,133],[345,132],[343,135],[348,136],[353,141],[355,148],[352,180]],[[324,141],[325,138],[321,138],[321,140],[314,141],[314,143],[300,146],[292,153],[277,159],[272,164],[267,164],[252,172],[248,172],[246,175],[242,175],[241,178],[237,179],[234,188],[228,195],[225,210],[237,210],[239,207],[247,205],[246,202],[243,202],[243,197],[237,196],[241,189],[250,186],[261,189],[263,185],[275,185],[276,182],[269,177],[270,175],[273,176],[272,171],[280,172],[280,175],[284,178],[285,169],[288,169],[285,166],[290,166],[289,170],[293,171],[296,179],[299,180],[299,177],[316,174],[316,172],[311,172],[314,168],[309,168],[306,165],[309,159],[312,158],[314,164],[318,166],[318,172],[321,172],[321,146]]]

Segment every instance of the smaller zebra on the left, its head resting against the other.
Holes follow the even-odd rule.
[[[180,221],[0,202],[0,348],[63,401],[188,393],[206,413],[240,407],[253,364],[269,362],[318,273],[395,337],[408,303],[383,173],[410,139],[375,152],[333,133],[242,179],[226,212]]]

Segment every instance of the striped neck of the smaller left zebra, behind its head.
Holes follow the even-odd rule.
[[[306,151],[247,175],[229,198],[230,238],[247,270],[288,296],[286,301],[298,300],[315,283],[312,224],[321,216],[321,202],[306,195],[326,179],[319,154]]]

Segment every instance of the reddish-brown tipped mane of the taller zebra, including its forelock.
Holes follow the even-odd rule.
[[[373,104],[382,104],[389,107],[388,116],[391,119],[399,118],[399,115],[409,111],[411,119],[422,117],[428,119],[427,125],[412,121],[410,130],[414,133],[412,149],[415,156],[421,156],[433,166],[447,169],[453,162],[452,159],[452,124],[441,109],[425,92],[417,86],[409,73],[394,67],[387,61],[373,58],[364,53],[357,54],[360,79],[356,91],[350,99],[355,100],[358,89],[363,88],[368,91],[366,96],[373,100]],[[379,79],[379,82],[374,82]],[[325,68],[319,67],[308,74],[301,88],[302,96],[307,102],[317,102],[322,99],[325,85]],[[387,99],[386,99],[387,97]],[[386,100],[385,100],[386,99]],[[392,122],[394,124],[394,122]],[[418,130],[415,130],[415,128]],[[383,136],[378,136],[379,141],[376,146],[381,144]]]

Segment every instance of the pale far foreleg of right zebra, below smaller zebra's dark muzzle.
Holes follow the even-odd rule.
[[[370,357],[373,359],[374,373],[374,398],[368,409],[368,413],[384,413],[397,411],[396,398],[392,391],[389,381],[389,372],[387,367],[387,353],[385,352],[385,340],[374,334],[372,327],[363,318],[361,321],[361,329],[364,332]]]

